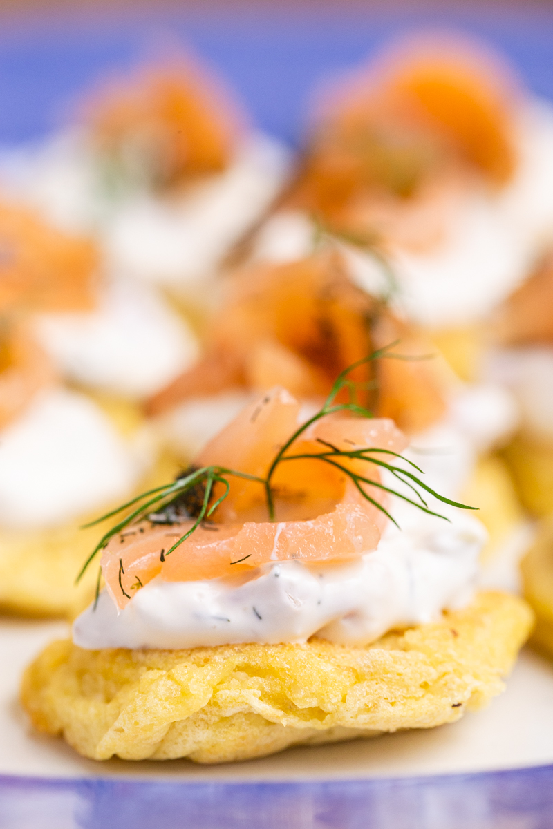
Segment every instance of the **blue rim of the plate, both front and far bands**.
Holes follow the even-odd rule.
[[[553,99],[553,12],[467,7],[224,6],[137,17],[35,17],[0,30],[0,144],[41,138],[106,70],[182,41],[226,75],[255,121],[295,144],[318,79],[428,24],[488,40]],[[156,47],[156,42],[158,46]],[[551,829],[553,765],[433,777],[287,783],[0,776],[0,829]]]

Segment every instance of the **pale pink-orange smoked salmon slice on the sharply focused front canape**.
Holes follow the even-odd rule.
[[[298,400],[288,391],[269,390],[206,446],[195,465],[217,465],[264,478],[276,453],[298,429],[299,413]],[[332,451],[329,444],[342,451],[377,448],[400,453],[407,440],[390,419],[337,413],[311,424],[285,455]],[[385,454],[377,457],[389,459]],[[339,460],[380,481],[376,466],[357,458]],[[228,481],[229,494],[213,521],[203,522],[171,555],[165,554],[192,527],[192,518],[173,526],[142,522],[109,541],[101,566],[119,608],[157,575],[167,581],[191,581],[251,573],[270,561],[353,559],[376,548],[386,523],[385,513],[362,497],[346,473],[316,458],[279,464],[271,479],[275,521],[269,521],[260,482],[231,475]],[[386,504],[385,492],[365,486],[375,502]],[[214,498],[220,492],[216,487]]]

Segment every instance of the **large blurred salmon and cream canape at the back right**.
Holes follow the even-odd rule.
[[[488,313],[551,239],[552,148],[551,107],[483,46],[399,41],[323,97],[265,253],[297,256],[315,218],[385,255],[395,306],[472,379]]]

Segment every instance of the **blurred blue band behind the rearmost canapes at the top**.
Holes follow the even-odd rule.
[[[314,85],[365,58],[391,35],[428,24],[483,36],[509,56],[533,90],[553,99],[553,11],[449,7],[410,12],[290,7],[142,13],[132,21],[27,21],[0,28],[0,143],[40,137],[114,68],[188,44],[235,87],[255,122],[289,143],[301,138]]]

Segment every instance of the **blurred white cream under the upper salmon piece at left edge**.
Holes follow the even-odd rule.
[[[115,279],[90,313],[51,313],[37,331],[65,376],[129,397],[151,395],[196,360],[186,322],[148,285]]]

